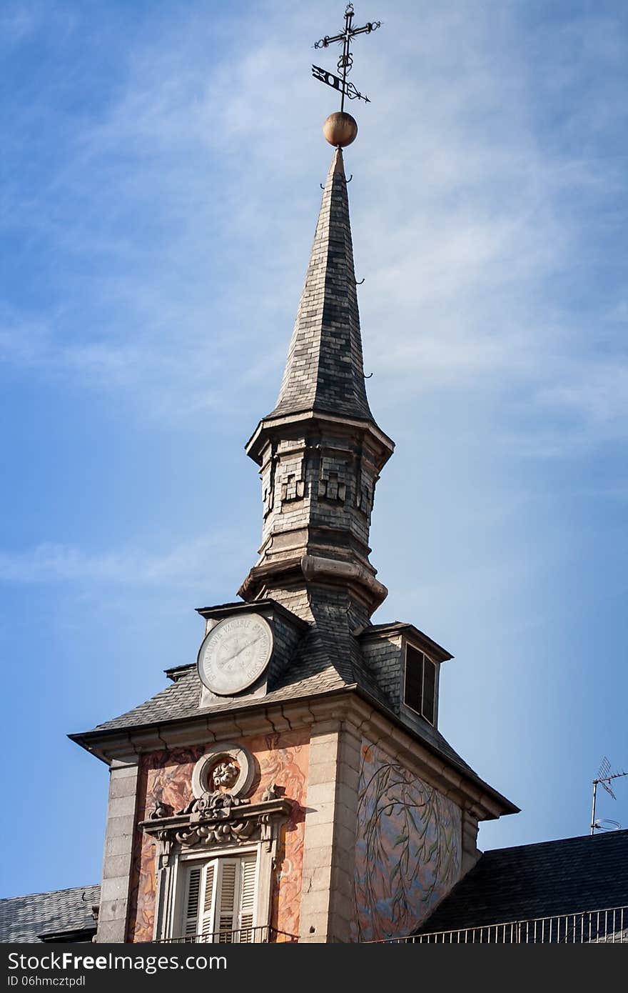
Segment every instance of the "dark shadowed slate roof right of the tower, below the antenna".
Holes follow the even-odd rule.
[[[497,848],[422,925],[424,932],[628,906],[628,830]]]

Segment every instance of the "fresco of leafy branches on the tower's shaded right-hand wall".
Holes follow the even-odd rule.
[[[461,812],[362,741],[353,939],[411,933],[460,874]]]

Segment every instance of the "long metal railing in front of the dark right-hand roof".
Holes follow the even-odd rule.
[[[628,944],[628,907],[431,931],[384,938],[377,944]]]

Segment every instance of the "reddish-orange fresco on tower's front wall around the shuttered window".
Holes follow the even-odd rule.
[[[255,757],[256,775],[249,793],[252,802],[261,800],[262,793],[273,782],[278,787],[283,787],[284,795],[292,801],[292,814],[282,830],[278,851],[271,924],[288,934],[298,934],[306,833],[308,732],[292,731],[259,735],[255,738],[234,738],[230,744],[244,746]],[[191,748],[151,752],[142,757],[137,821],[147,820],[157,803],[164,803],[173,810],[181,810],[188,804],[191,799],[192,770],[202,755],[204,748]],[[132,873],[128,940],[152,941],[156,890],[155,844],[152,838],[141,831],[137,832],[135,840]]]

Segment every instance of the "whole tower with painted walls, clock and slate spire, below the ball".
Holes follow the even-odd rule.
[[[111,771],[99,941],[361,941],[412,932],[517,808],[440,734],[440,665],[414,625],[373,624],[369,555],[393,443],[362,369],[337,148],[260,467],[259,559],[202,608],[197,662],[71,736]]]

